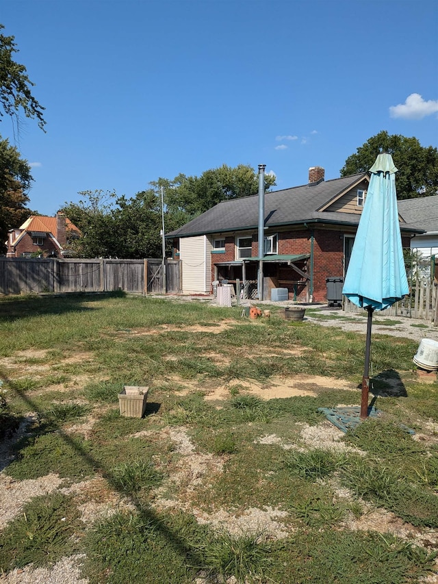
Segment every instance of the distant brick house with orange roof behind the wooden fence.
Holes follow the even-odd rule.
[[[58,211],[55,217],[31,215],[18,229],[8,231],[6,257],[66,257],[69,241],[79,229]]]

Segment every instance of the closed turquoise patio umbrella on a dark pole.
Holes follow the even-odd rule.
[[[368,416],[372,314],[409,293],[396,198],[397,168],[381,153],[370,168],[370,186],[363,205],[342,294],[368,312],[361,418]]]

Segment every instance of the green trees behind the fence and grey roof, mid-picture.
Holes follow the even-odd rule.
[[[266,175],[266,188],[274,181]],[[162,188],[164,229],[169,233],[220,201],[257,194],[259,179],[250,166],[223,165],[201,177],[159,178],[131,198],[101,190],[80,192],[79,203],[66,203],[63,209],[81,231],[73,249],[81,257],[161,257]],[[170,249],[167,242],[167,254]]]

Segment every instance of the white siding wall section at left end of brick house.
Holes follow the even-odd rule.
[[[211,287],[211,242],[205,236],[181,238],[183,294],[209,294]]]

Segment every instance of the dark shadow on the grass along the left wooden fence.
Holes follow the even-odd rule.
[[[103,301],[109,298],[124,298],[125,292],[70,292],[47,294],[47,296],[5,296],[1,299],[0,322],[12,322],[39,314],[64,314],[87,312],[84,301]]]

